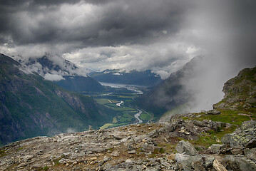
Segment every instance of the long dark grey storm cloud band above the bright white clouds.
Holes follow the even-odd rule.
[[[190,3],[179,1],[89,1],[91,13],[76,17],[68,15],[75,6],[66,6],[69,1],[9,1],[2,3],[0,31],[11,36],[14,43],[61,43],[79,42],[81,46],[118,46],[121,44],[150,43],[163,38],[166,33],[176,33],[183,21],[185,9]],[[102,6],[104,4],[104,6]],[[15,7],[16,5],[16,7]],[[51,6],[59,5],[59,6]],[[19,8],[18,8],[19,6]],[[78,4],[83,6],[83,4]],[[192,6],[192,5],[191,5]],[[71,11],[68,11],[68,8]],[[90,8],[90,7],[88,7]],[[90,10],[90,9],[88,9]],[[62,11],[64,13],[64,11]],[[69,18],[71,16],[71,18]],[[4,42],[2,42],[4,43]]]

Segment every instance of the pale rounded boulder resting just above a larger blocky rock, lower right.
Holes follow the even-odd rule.
[[[178,142],[178,145],[176,145],[175,149],[177,152],[184,155],[196,155],[198,153],[197,150],[195,150],[195,147],[190,144],[190,142],[186,142],[184,140]]]

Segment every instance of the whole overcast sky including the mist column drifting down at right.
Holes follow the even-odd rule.
[[[193,107],[209,109],[225,81],[256,65],[255,9],[255,0],[0,0],[0,52],[162,78],[204,56],[183,83]]]

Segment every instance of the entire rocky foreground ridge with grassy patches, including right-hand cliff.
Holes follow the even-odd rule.
[[[127,125],[13,142],[1,147],[0,168],[256,170],[256,113],[250,100],[255,98],[255,76],[255,68],[245,69],[227,81],[224,89],[228,93],[214,110],[172,115],[165,123]],[[246,81],[248,79],[252,82]],[[243,82],[247,83],[245,88],[239,86]],[[231,90],[238,93],[231,95]],[[230,103],[228,99],[235,97],[239,103]]]

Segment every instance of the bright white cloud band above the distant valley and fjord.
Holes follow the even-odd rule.
[[[170,73],[178,71],[191,58],[191,53],[186,53],[190,44],[175,42],[175,38],[173,39],[150,45],[82,48],[64,53],[63,58],[92,70],[125,69],[128,72],[149,69],[155,73],[165,72],[165,76],[163,74],[160,76],[167,78]]]

